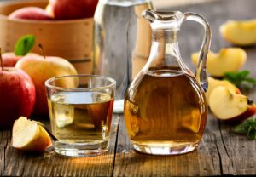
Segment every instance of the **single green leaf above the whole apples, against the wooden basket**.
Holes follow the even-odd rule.
[[[34,46],[36,42],[36,37],[33,35],[26,35],[20,37],[18,42],[15,44],[15,55],[24,56],[26,55]]]

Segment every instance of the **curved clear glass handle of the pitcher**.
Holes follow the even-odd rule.
[[[207,22],[200,14],[186,12],[184,13],[183,20],[193,20],[200,23],[204,26],[205,35],[203,38],[203,43],[200,49],[199,60],[197,63],[197,68],[195,71],[195,77],[197,81],[201,84],[201,87],[206,92],[208,88],[208,81],[207,81],[207,54],[210,49],[211,45],[211,38],[212,38],[212,31]]]

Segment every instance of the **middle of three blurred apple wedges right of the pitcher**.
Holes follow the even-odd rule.
[[[197,66],[199,53],[191,55],[191,60]],[[212,77],[224,77],[224,73],[238,71],[247,60],[246,52],[241,48],[221,49],[218,54],[209,52],[207,56],[207,71]]]

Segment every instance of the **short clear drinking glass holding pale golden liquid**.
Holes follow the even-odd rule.
[[[45,82],[56,153],[87,157],[108,151],[115,85],[110,77],[92,75]]]

